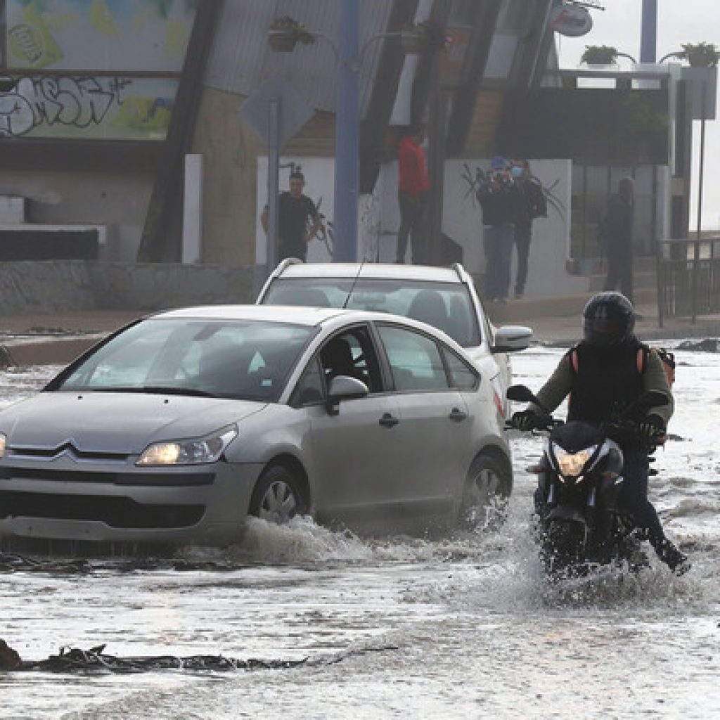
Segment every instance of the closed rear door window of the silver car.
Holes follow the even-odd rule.
[[[446,390],[449,387],[435,341],[397,325],[379,325],[378,331],[390,363],[395,390]]]

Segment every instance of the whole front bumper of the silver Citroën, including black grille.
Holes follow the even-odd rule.
[[[140,469],[126,462],[0,464],[0,539],[224,545],[237,541],[261,464]]]

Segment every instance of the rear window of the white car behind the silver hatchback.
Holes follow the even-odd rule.
[[[392,312],[433,325],[463,347],[480,345],[480,327],[472,299],[462,283],[280,277],[271,282],[261,302],[263,305],[348,307],[353,310]]]

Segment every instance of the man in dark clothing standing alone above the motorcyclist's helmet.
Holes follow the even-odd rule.
[[[631,302],[633,215],[633,181],[632,178],[623,178],[618,184],[618,192],[608,200],[605,217],[600,222],[600,243],[608,256],[605,289],[615,290],[619,284],[621,292]]]

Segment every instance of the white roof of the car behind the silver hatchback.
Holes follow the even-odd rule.
[[[289,263],[279,272],[282,278],[372,278],[388,280],[426,280],[463,282],[454,267],[391,265],[382,263]]]

